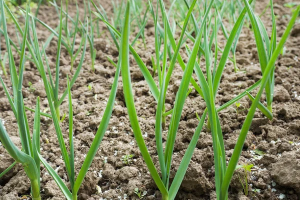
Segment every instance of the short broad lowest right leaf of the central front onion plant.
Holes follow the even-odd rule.
[[[202,129],[202,126],[204,124],[204,119],[205,119],[205,116],[206,116],[206,112],[207,112],[207,109],[204,110],[202,116],[201,116],[201,119],[195,129],[195,132],[194,134],[192,135],[192,138],[188,144],[188,147],[183,155],[183,158],[180,162],[180,165],[178,167],[178,170],[175,174],[175,177],[172,181],[172,184],[170,186],[170,189],[169,189],[169,199],[170,200],[173,200],[176,196],[176,193],[179,189],[179,186],[183,180],[183,177],[184,177],[184,174],[186,172],[186,169],[188,167],[188,164],[189,164],[189,161],[192,157],[192,153],[196,147],[196,144],[197,144],[197,141],[198,141],[198,138],[200,136],[200,133],[201,133],[201,129]]]

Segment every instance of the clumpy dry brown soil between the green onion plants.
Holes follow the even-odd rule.
[[[274,12],[278,16],[277,32],[280,36],[288,22],[290,9],[283,6],[283,3],[290,0],[274,0]],[[82,3],[82,2],[80,2]],[[256,0],[256,12],[261,13],[267,5],[266,0]],[[112,7],[109,3],[102,3],[109,13]],[[81,7],[81,6],[80,6]],[[83,6],[82,6],[83,7]],[[83,13],[83,8],[80,12]],[[75,10],[70,5],[69,10]],[[74,13],[71,13],[73,15]],[[51,16],[51,18],[49,18]],[[41,6],[38,17],[46,21],[51,27],[56,27],[58,17],[51,6]],[[262,20],[267,24],[270,32],[270,13],[263,14]],[[16,39],[13,26],[9,26],[9,34]],[[95,38],[97,50],[95,72],[90,72],[90,55],[87,48],[86,56],[80,76],[72,87],[72,103],[74,109],[74,149],[75,149],[75,171],[78,172],[85,158],[89,146],[94,138],[101,117],[105,109],[105,103],[109,95],[115,68],[107,60],[106,56],[117,61],[118,51],[110,41],[109,33],[104,24],[100,23],[100,29],[104,30],[101,38]],[[49,33],[40,24],[37,24],[38,36],[44,41]],[[136,45],[135,48],[140,57],[151,69],[151,54],[154,55],[153,23],[149,20],[146,25],[146,46]],[[138,30],[135,28],[134,32]],[[221,32],[219,32],[221,34]],[[133,34],[134,35],[134,34]],[[223,38],[220,36],[220,38]],[[1,38],[1,42],[4,40]],[[54,73],[56,42],[54,38],[46,53],[49,57],[51,72]],[[79,45],[80,38],[76,40]],[[219,40],[221,47],[225,40]],[[273,120],[269,121],[258,110],[255,113],[253,123],[248,132],[244,149],[239,159],[239,164],[252,163],[251,172],[248,172],[247,182],[249,193],[245,196],[242,192],[240,181],[245,183],[244,171],[235,171],[230,187],[229,199],[299,199],[300,198],[300,63],[298,56],[300,52],[300,23],[297,22],[288,38],[285,47],[286,53],[280,55],[275,68],[275,91],[273,101]],[[2,45],[4,48],[4,45]],[[5,48],[3,49],[5,50]],[[184,49],[183,49],[184,50]],[[183,52],[182,50],[182,52]],[[80,56],[80,55],[79,55]],[[221,105],[232,99],[235,95],[252,85],[261,77],[256,46],[253,33],[248,28],[243,28],[236,50],[237,66],[240,71],[233,72],[233,64],[228,61],[224,70],[220,88],[216,97],[216,103]],[[16,63],[19,57],[15,55]],[[187,56],[183,56],[187,60]],[[75,61],[75,67],[79,60]],[[6,63],[7,65],[7,63]],[[139,116],[139,124],[156,167],[158,158],[154,138],[155,108],[156,103],[149,92],[147,84],[143,79],[133,57],[130,56],[130,71],[133,82],[133,93],[135,106]],[[63,48],[60,58],[60,85],[66,87],[66,74],[72,75],[70,71],[70,59],[67,51]],[[71,74],[70,74],[71,73]],[[169,91],[166,97],[166,110],[172,108],[175,92],[178,89],[182,71],[176,65],[170,81]],[[157,80],[157,77],[155,77]],[[7,87],[11,86],[9,78],[4,78]],[[32,83],[30,88],[29,82]],[[91,90],[87,85],[91,84]],[[253,92],[255,94],[255,91]],[[95,96],[96,94],[96,96]],[[41,97],[41,110],[47,107],[46,94],[43,83],[33,63],[27,61],[25,64],[23,95],[25,104],[34,107],[36,96]],[[265,97],[262,97],[262,101]],[[242,122],[250,106],[250,100],[242,98],[240,101],[243,111],[238,114],[232,108],[226,108],[219,112],[222,126],[227,160],[229,160]],[[231,107],[234,107],[231,106]],[[202,113],[205,102],[193,90],[187,97],[179,124],[177,137],[174,146],[172,159],[171,177],[182,159],[187,145],[193,135],[197,124],[195,112]],[[67,112],[68,103],[65,99],[61,105],[61,115]],[[30,129],[33,125],[33,114],[29,111],[28,121]],[[0,117],[4,122],[7,132],[12,141],[20,146],[16,119],[10,109],[9,103],[0,87]],[[167,118],[168,119],[168,118]],[[68,115],[61,123],[61,129],[67,143]],[[41,117],[41,154],[49,164],[57,170],[58,175],[68,182],[64,169],[61,152],[58,146],[56,133],[51,120]],[[166,139],[166,131],[163,132],[163,139]],[[259,151],[257,151],[258,149]],[[128,163],[123,163],[123,155],[133,154]],[[13,159],[8,155],[3,146],[0,146],[0,171],[7,168]],[[241,178],[241,180],[240,180]],[[68,183],[67,183],[68,184]],[[100,186],[102,193],[98,193],[96,185]],[[133,192],[138,187],[146,191],[144,199],[160,199],[160,192],[157,190],[146,165],[141,157],[133,133],[130,128],[126,107],[122,94],[122,83],[119,81],[115,106],[102,143],[93,159],[84,182],[78,192],[79,199],[138,199]],[[7,174],[0,179],[0,199],[19,199],[22,195],[29,194],[29,180],[27,179],[22,166],[16,164]],[[47,170],[41,165],[41,197],[42,199],[60,200],[64,199],[59,188],[56,186]],[[176,199],[216,199],[214,188],[214,165],[212,139],[209,131],[202,130],[199,141],[194,150],[189,167],[186,171]]]

